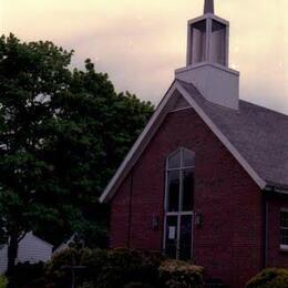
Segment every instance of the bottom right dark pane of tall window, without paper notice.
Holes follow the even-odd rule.
[[[192,216],[181,217],[179,258],[188,260],[192,257]]]

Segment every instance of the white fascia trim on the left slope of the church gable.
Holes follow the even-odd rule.
[[[151,120],[148,121],[147,125],[145,126],[144,131],[141,133],[141,135],[138,136],[138,138],[136,140],[134,145],[132,146],[131,151],[128,152],[128,154],[122,162],[121,166],[119,167],[119,169],[116,171],[116,173],[114,174],[112,179],[110,181],[109,185],[106,186],[106,188],[100,196],[100,198],[99,198],[100,203],[106,203],[111,197],[113,197],[116,188],[119,187],[120,177],[124,178],[126,176],[126,174],[127,174],[127,172],[125,173],[126,166],[132,161],[133,155],[138,150],[138,147],[141,146],[142,142],[144,141],[144,138],[146,137],[148,132],[153,128],[155,122],[158,120],[161,113],[163,112],[163,110],[166,106],[166,104],[168,103],[171,96],[175,92],[175,83],[176,83],[175,81],[172,83],[171,88],[168,89],[165,96],[158,104],[157,109],[155,110],[154,114],[152,115]]]

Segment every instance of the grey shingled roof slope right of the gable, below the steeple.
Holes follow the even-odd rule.
[[[238,111],[223,107],[177,82],[268,185],[288,188],[288,115],[241,100]]]

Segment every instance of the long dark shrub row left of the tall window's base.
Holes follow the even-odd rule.
[[[85,267],[76,274],[78,285],[84,288],[119,288],[130,282],[143,282],[151,287],[158,279],[158,266],[163,256],[130,249],[65,249],[47,265],[47,277],[55,288],[71,286],[71,272],[63,266]],[[148,285],[148,286],[147,286]]]

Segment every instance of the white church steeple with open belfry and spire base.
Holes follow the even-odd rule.
[[[192,82],[216,104],[238,109],[239,72],[228,68],[229,22],[214,14],[214,0],[205,0],[204,14],[188,21],[186,66],[176,79]]]

